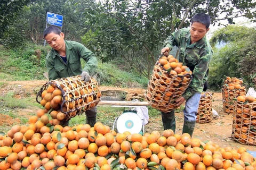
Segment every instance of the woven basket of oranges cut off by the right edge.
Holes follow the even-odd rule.
[[[256,103],[234,101],[231,137],[244,145],[256,145]]]

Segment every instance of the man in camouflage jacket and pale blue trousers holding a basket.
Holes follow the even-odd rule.
[[[205,82],[208,79],[208,68],[212,60],[212,48],[206,39],[206,33],[209,31],[211,19],[204,13],[193,16],[190,28],[183,28],[173,32],[165,41],[165,47],[161,50],[165,56],[168,56],[173,46],[178,47],[178,60],[183,65],[189,67],[193,72],[193,79],[182,97],[176,100],[177,106],[180,106],[185,100],[184,123],[182,133],[189,133],[192,137],[196,114],[199,105],[201,92]],[[164,130],[172,129],[175,132],[175,114],[174,110],[170,113],[162,113]]]

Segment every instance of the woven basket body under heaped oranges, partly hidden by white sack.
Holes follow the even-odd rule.
[[[230,83],[229,83],[230,84]],[[239,95],[246,95],[246,89],[244,86],[235,87],[224,84],[221,88],[223,110],[226,113],[234,113],[234,98]]]

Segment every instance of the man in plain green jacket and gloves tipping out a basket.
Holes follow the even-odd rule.
[[[44,38],[52,47],[46,56],[46,68],[49,80],[61,79],[82,75],[82,80],[87,82],[90,74],[93,73],[98,66],[97,58],[84,45],[76,41],[65,40],[65,35],[58,27],[50,26],[44,30]],[[85,67],[82,69],[80,59],[86,61]],[[85,112],[86,123],[94,126],[96,122],[97,108],[94,107]],[[63,123],[67,126],[68,121]]]

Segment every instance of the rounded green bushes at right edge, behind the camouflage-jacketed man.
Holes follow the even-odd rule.
[[[210,67],[209,86],[221,86],[225,76],[243,78],[247,84],[256,77],[256,30],[245,26],[228,25],[214,32],[211,44],[215,47]]]

